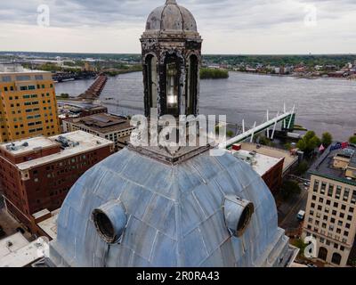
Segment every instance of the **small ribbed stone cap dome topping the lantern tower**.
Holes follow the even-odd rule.
[[[194,16],[186,8],[178,5],[175,0],[167,0],[166,4],[150,13],[146,23],[146,32],[198,32]]]

